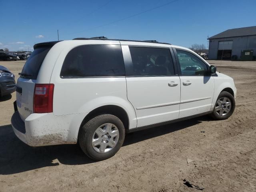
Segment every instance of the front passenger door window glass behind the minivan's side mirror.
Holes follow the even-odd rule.
[[[204,62],[193,54],[176,50],[180,61],[182,75],[204,75],[208,73],[208,68]]]

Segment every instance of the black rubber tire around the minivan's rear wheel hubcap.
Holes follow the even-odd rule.
[[[105,153],[99,153],[96,152],[92,146],[92,136],[96,129],[105,123],[112,123],[118,128],[119,139],[116,146],[114,146],[112,150]],[[102,114],[92,118],[86,124],[84,124],[79,131],[78,140],[80,148],[89,158],[94,160],[105,160],[114,156],[118,152],[124,142],[124,137],[125,129],[122,121],[114,115]]]

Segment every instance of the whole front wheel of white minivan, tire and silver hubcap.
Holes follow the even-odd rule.
[[[229,118],[235,110],[235,99],[229,92],[223,91],[218,96],[211,116],[216,120]]]

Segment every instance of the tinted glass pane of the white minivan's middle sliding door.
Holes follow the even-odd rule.
[[[129,47],[134,76],[174,75],[169,49]]]

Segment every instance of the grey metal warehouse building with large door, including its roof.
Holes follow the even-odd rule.
[[[242,56],[256,56],[256,26],[229,29],[208,40],[209,59],[231,59],[232,56],[240,59],[241,53]]]

